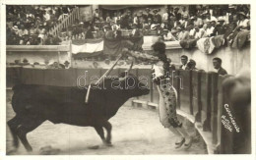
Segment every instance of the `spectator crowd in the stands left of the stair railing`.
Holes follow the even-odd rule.
[[[58,45],[49,33],[75,6],[15,5],[6,8],[7,45]]]

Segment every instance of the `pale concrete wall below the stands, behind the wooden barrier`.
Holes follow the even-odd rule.
[[[41,46],[43,47],[43,46]],[[68,47],[68,46],[67,46]],[[201,52],[198,48],[193,48],[191,50],[185,50],[182,48],[178,48],[176,45],[172,45],[174,49],[171,47],[167,47],[169,49],[166,50],[166,55],[171,59],[172,63],[175,65],[180,65],[180,56],[187,55],[189,59],[193,59],[196,61],[196,67],[200,70],[214,71],[212,60],[214,57],[219,57],[223,60],[223,68],[229,75],[235,75],[240,70],[245,68],[250,68],[250,44],[247,44],[243,49],[232,49],[230,47],[222,47],[216,49],[211,55],[207,55]],[[12,49],[12,48],[11,48]],[[67,49],[69,50],[69,49]],[[152,52],[151,50],[147,50],[146,52]],[[15,60],[23,61],[24,58],[27,58],[30,63],[38,62],[43,64],[45,60],[49,60],[49,63],[58,62],[58,52],[57,51],[37,51],[36,49],[32,49],[32,51],[21,50],[11,50],[7,48],[6,61],[7,63],[14,63]],[[70,53],[62,51],[60,52],[59,61],[60,63],[64,63],[65,61],[70,61]],[[93,62],[86,61],[74,61],[74,68],[91,68]],[[108,68],[110,65],[105,65],[104,62],[98,62],[99,67]],[[120,66],[126,67],[126,66]],[[134,68],[151,68],[151,65],[135,65]]]

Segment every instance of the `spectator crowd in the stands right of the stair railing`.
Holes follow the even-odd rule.
[[[250,29],[250,10],[246,5],[226,5],[222,9],[210,5],[198,6],[192,13],[184,6],[166,6],[164,10],[160,15],[160,9],[146,8],[136,13],[127,9],[123,14],[115,12],[112,17],[106,13],[103,19],[96,9],[92,22],[70,26],[67,34],[76,39],[118,39],[153,34],[165,41],[180,41],[221,34],[230,38],[230,34],[234,37],[234,33]]]

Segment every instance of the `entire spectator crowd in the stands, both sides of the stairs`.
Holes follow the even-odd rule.
[[[198,5],[193,12],[185,6],[146,8],[132,13],[127,9],[104,17],[99,9],[91,22],[80,22],[62,28],[56,36],[48,31],[60,24],[75,6],[7,6],[7,43],[13,45],[58,44],[61,39],[142,37],[159,35],[165,41],[199,39],[224,34],[228,40],[241,30],[250,30],[248,5]]]

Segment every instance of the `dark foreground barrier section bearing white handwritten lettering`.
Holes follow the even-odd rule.
[[[250,103],[247,101],[250,98],[247,97],[248,90],[246,92],[236,90],[235,95],[232,94],[234,87],[237,87],[236,82],[240,81],[233,77],[224,80],[223,103],[220,107],[222,121],[220,153],[251,154],[251,106],[247,104]],[[240,83],[241,90],[248,87],[246,82]],[[236,96],[235,99],[231,100],[231,94]]]

